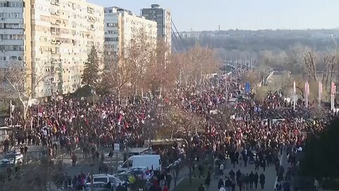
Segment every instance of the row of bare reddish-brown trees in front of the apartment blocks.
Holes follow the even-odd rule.
[[[207,74],[217,71],[218,62],[213,50],[199,45],[171,53],[165,42],[154,42],[141,30],[119,56],[93,47],[82,83],[88,91],[114,93],[119,100],[145,93],[161,96],[179,86],[199,86]]]

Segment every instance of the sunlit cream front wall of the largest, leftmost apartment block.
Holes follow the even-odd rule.
[[[40,76],[47,76],[36,94],[74,93],[81,87],[91,47],[102,52],[103,7],[84,0],[35,0],[32,7],[33,68],[40,68]]]

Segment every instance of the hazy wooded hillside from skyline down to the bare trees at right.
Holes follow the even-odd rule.
[[[316,68],[322,70],[324,56],[331,56],[339,45],[339,29],[196,31],[180,36],[172,40],[176,52],[198,43],[213,48],[227,62],[251,62],[296,74],[305,71],[304,53],[316,51]]]

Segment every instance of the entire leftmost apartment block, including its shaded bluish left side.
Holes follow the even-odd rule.
[[[0,2],[0,17],[5,18],[0,31],[6,31],[1,33],[0,67],[22,60],[37,76],[31,79],[32,86],[44,77],[35,97],[75,92],[91,47],[103,50],[104,8],[85,0]]]

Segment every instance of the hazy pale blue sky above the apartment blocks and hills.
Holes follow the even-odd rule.
[[[307,29],[339,27],[338,0],[87,0],[140,14],[160,4],[172,11],[179,31]]]

